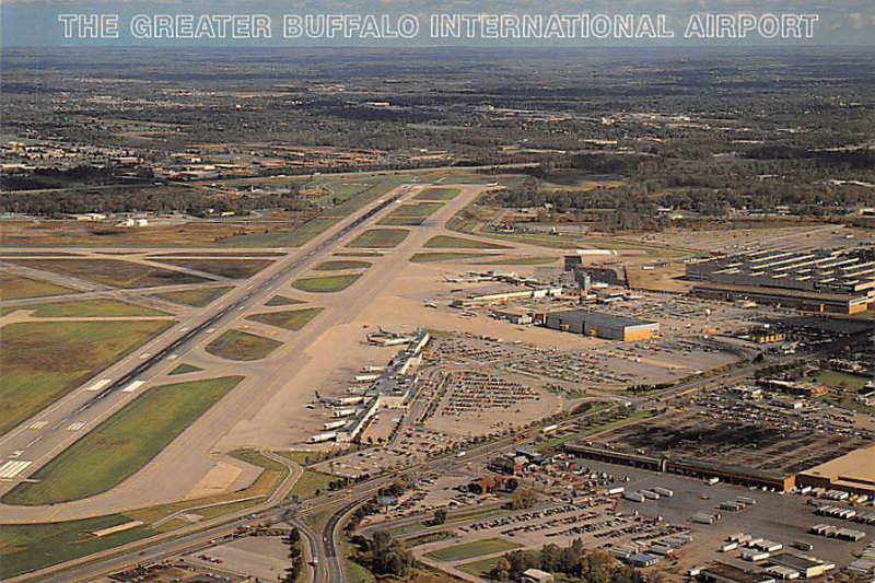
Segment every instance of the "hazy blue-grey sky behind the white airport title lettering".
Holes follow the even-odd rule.
[[[712,36],[685,33],[690,19],[703,13],[751,14],[759,19],[765,14],[817,15],[810,38],[783,38],[780,33],[773,38],[763,37],[758,30],[745,38],[714,38]],[[77,24],[71,21],[70,37],[65,36],[65,24],[59,15],[103,14],[118,19],[118,36],[109,38],[80,37]],[[270,19],[270,38],[148,38],[155,15],[261,14]],[[373,14],[388,19],[389,28],[397,26],[400,15],[409,14],[418,20],[419,34],[412,38],[360,38],[358,32],[350,38],[290,38],[283,35],[283,18],[288,14]],[[666,30],[674,37],[625,38],[609,33],[604,38],[483,38],[479,32],[474,38],[433,37],[430,33],[432,14],[511,14],[537,15],[588,14],[591,18],[605,14],[631,14],[639,25],[642,16],[656,21],[664,15]],[[139,16],[144,37],[131,32],[131,23]],[[704,23],[704,20],[699,20]],[[737,21],[734,21],[737,22]],[[384,34],[381,28],[381,34]],[[244,33],[245,34],[245,33]],[[858,45],[875,46],[875,0],[0,0],[0,43],[4,47],[32,46],[152,46],[152,47],[234,47],[234,46],[804,46],[804,45]]]

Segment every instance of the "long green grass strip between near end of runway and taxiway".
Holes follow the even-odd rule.
[[[52,504],[105,492],[145,466],[243,380],[224,376],[150,388],[10,490],[8,504]]]

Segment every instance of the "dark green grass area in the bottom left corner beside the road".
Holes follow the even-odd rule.
[[[97,538],[91,533],[130,522],[122,514],[83,521],[0,526],[0,580],[118,547],[154,534],[145,526]]]

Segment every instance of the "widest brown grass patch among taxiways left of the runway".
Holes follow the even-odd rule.
[[[148,288],[207,281],[197,276],[122,259],[10,259],[10,261],[114,288]]]

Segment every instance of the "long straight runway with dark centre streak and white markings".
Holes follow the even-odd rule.
[[[179,358],[206,341],[217,329],[241,317],[247,308],[258,305],[275,293],[280,284],[320,260],[347,236],[370,224],[382,211],[408,195],[411,188],[411,185],[398,187],[396,194],[377,200],[352,220],[341,222],[341,226],[329,231],[329,235],[317,236],[308,245],[242,282],[220,299],[218,306],[210,306],[190,320],[174,326],[4,434],[0,438],[0,464],[15,460],[23,467],[15,476],[0,481],[0,494],[26,479],[89,429],[136,398],[143,390],[143,385],[154,377],[150,374],[154,369]]]

